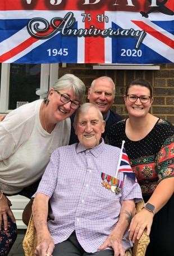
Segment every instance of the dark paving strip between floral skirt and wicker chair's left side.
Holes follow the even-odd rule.
[[[24,239],[25,232],[26,230],[18,230],[17,239],[8,256],[25,256],[24,250],[22,249],[22,241]]]

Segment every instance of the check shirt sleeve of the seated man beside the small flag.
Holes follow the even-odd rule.
[[[134,199],[138,203],[143,199],[141,188],[138,182],[124,174],[123,186],[121,189],[121,203],[123,200]]]

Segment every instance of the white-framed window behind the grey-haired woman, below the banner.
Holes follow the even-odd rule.
[[[21,104],[43,98],[58,78],[58,64],[2,64],[0,74],[0,113],[8,113]]]

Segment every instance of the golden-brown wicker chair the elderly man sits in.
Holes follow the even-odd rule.
[[[143,208],[143,201],[136,204],[136,213],[138,213]],[[146,231],[143,232],[139,240],[135,241],[134,247],[131,250],[126,251],[125,256],[144,256],[146,248],[149,244],[149,236],[146,235]],[[37,244],[37,234],[34,226],[33,216],[31,215],[28,229],[23,241],[23,249],[25,251],[25,256],[34,256],[34,251]]]

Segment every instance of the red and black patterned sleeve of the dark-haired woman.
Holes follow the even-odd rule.
[[[156,160],[158,182],[165,178],[174,177],[174,135],[164,142]]]

